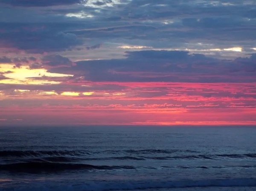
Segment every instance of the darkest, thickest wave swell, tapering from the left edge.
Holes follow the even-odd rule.
[[[76,163],[60,162],[19,162],[13,164],[0,165],[0,171],[13,172],[55,172],[65,170],[114,170],[114,169],[134,169],[133,166],[107,166],[107,165],[89,165]]]

